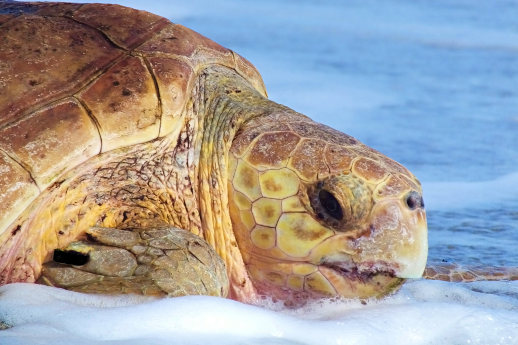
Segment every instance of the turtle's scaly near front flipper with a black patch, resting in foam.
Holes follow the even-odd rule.
[[[43,265],[40,283],[84,293],[158,297],[225,297],[228,292],[223,260],[188,231],[91,227],[86,233],[89,241],[54,252],[54,261]]]

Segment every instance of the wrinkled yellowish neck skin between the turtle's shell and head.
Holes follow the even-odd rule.
[[[271,102],[224,67],[210,67],[202,73],[194,94],[198,101],[194,107],[198,113],[195,157],[199,171],[195,185],[199,189],[203,235],[227,266],[231,285],[227,297],[247,301],[256,290],[243,263],[228,210],[228,153],[239,128],[253,118],[279,112],[307,117]]]

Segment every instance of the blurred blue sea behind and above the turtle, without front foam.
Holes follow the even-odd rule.
[[[261,72],[423,183],[430,261],[518,266],[518,1],[112,0]]]

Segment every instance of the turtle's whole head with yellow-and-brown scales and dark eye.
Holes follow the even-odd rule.
[[[400,164],[298,117],[248,122],[229,153],[229,210],[261,294],[367,298],[420,278],[428,252],[418,180]]]

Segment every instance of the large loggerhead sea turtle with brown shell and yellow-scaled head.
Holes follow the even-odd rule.
[[[300,303],[421,277],[419,181],[266,97],[152,13],[0,1],[0,284]]]

